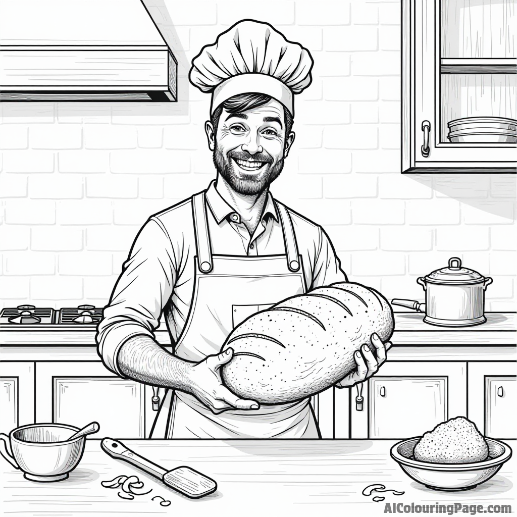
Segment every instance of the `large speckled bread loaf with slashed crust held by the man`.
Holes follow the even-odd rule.
[[[393,311],[370,287],[341,282],[287,298],[236,327],[222,349],[223,382],[238,396],[281,404],[312,396],[355,368],[354,352],[393,333]]]

